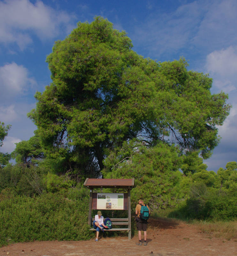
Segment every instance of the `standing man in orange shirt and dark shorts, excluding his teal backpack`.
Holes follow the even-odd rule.
[[[145,205],[142,199],[138,201],[138,204],[136,206],[136,215],[137,215],[136,221],[137,221],[137,230],[138,230],[138,238],[139,238],[139,242],[137,245],[142,245],[141,230],[144,231],[144,245],[147,245],[147,220],[140,219],[141,205]],[[149,209],[148,206],[147,208]],[[149,209],[149,214],[150,214],[150,209]]]

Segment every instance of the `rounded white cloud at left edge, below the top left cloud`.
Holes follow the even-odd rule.
[[[1,101],[24,93],[36,84],[34,78],[29,77],[28,69],[15,62],[0,67]]]

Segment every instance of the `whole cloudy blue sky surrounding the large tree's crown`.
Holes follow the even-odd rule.
[[[34,135],[27,113],[35,107],[35,92],[51,82],[45,59],[54,42],[78,21],[90,23],[98,15],[125,30],[138,54],[157,61],[184,56],[188,69],[210,74],[211,92],[228,93],[233,108],[204,163],[216,172],[237,161],[236,0],[0,1],[0,121],[12,125],[0,150],[10,153],[14,143]]]

